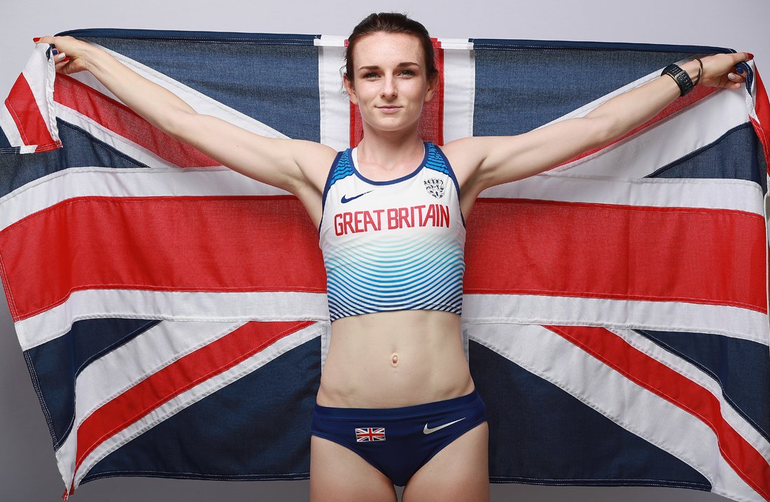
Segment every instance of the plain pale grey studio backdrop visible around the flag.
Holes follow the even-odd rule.
[[[594,42],[711,45],[752,52],[758,70],[770,75],[770,2],[701,0],[490,0],[487,2],[3,2],[0,32],[0,95],[8,95],[32,52],[32,37],[75,28],[146,28],[218,32],[348,35],[370,12],[406,12],[433,36],[531,38]],[[531,68],[536,79],[538,68]],[[597,75],[596,78],[602,78]],[[770,77],[765,76],[770,85]],[[0,499],[60,500],[64,489],[32,382],[15,337],[5,295],[0,300]],[[401,490],[399,490],[400,493]],[[541,487],[493,484],[493,502],[527,500],[624,500],[688,502],[725,500],[675,488]],[[77,490],[78,502],[124,500],[307,500],[307,481],[197,481],[152,478],[96,480]]]

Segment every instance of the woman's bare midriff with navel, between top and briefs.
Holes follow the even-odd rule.
[[[330,407],[387,408],[470,394],[460,316],[391,311],[332,323],[316,402]]]

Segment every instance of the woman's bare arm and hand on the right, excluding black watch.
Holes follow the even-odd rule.
[[[745,76],[735,65],[753,56],[746,52],[716,54],[701,58],[703,70],[693,60],[681,65],[697,85],[737,89]],[[668,75],[624,92],[598,106],[584,117],[569,118],[515,136],[477,136],[452,141],[444,147],[447,156],[467,166],[461,183],[475,194],[484,188],[516,181],[547,171],[576,155],[621,138],[658,114],[680,95],[678,84]],[[460,176],[460,173],[458,173]]]

